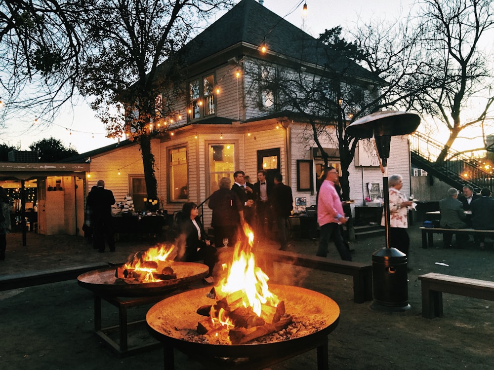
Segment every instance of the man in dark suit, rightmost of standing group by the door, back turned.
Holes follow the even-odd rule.
[[[282,181],[282,174],[277,172],[274,176],[275,185],[269,194],[269,198],[271,199],[273,216],[278,228],[280,251],[286,251],[288,248],[287,221],[293,209],[293,197],[291,187],[283,184]]]

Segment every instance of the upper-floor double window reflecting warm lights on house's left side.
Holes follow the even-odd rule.
[[[216,114],[214,74],[189,82],[189,120]]]

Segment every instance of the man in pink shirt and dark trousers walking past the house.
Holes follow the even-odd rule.
[[[343,241],[339,226],[346,223],[347,219],[343,212],[340,197],[334,188],[334,183],[338,181],[338,171],[329,166],[323,171],[321,178],[324,180],[317,195],[317,222],[321,227],[321,235],[316,256],[326,257],[328,244],[332,240],[341,259],[351,261],[352,256]]]

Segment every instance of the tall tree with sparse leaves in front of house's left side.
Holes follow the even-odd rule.
[[[109,135],[125,132],[138,141],[148,199],[158,199],[151,136],[158,124],[166,131],[177,120],[177,97],[184,94],[176,84],[176,52],[197,25],[229,5],[231,0],[86,1],[82,25],[90,46],[79,87],[96,97],[92,108]]]

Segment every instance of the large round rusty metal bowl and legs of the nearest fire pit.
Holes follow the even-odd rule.
[[[223,362],[244,359],[246,369],[262,369],[317,348],[318,369],[328,369],[328,334],[338,324],[338,305],[328,296],[304,288],[270,285],[270,290],[285,301],[294,326],[289,326],[282,337],[272,333],[240,345],[210,344],[197,334],[196,327],[202,317],[196,310],[201,305],[211,304],[206,296],[210,288],[170,296],[151,307],[146,322],[153,336],[163,342],[165,369],[174,369],[173,348],[202,363],[220,358]],[[223,365],[232,366],[231,363]],[[222,364],[214,366],[221,368]]]

